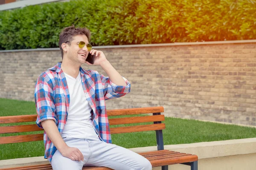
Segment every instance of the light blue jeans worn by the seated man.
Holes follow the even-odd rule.
[[[115,144],[90,139],[67,137],[69,147],[78,148],[83,161],[72,161],[56,150],[52,156],[53,170],[81,170],[83,166],[109,167],[113,170],[152,170],[151,163],[143,156]]]

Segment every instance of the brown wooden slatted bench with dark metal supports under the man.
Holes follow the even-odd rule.
[[[198,156],[179,153],[171,150],[164,150],[163,148],[163,133],[162,130],[165,129],[165,124],[161,121],[164,120],[163,107],[152,107],[152,108],[131,108],[131,109],[116,109],[108,110],[109,123],[110,125],[124,125],[142,122],[153,122],[150,125],[132,125],[123,127],[112,127],[111,134],[116,133],[130,133],[130,132],[140,132],[140,131],[156,131],[157,138],[157,151],[143,152],[140,155],[147,158],[152,167],[162,166],[162,170],[168,170],[168,165],[172,164],[185,164],[191,166],[191,170],[198,170]],[[140,116],[136,117],[122,117],[113,118],[110,116],[118,115],[134,115],[134,114],[145,114],[153,113],[152,116]],[[22,115],[22,116],[2,116],[0,117],[0,124],[17,123],[17,122],[35,122],[37,115]],[[43,130],[37,125],[15,125],[15,126],[2,126],[0,127],[0,134],[3,133],[17,133],[17,132],[32,132]],[[30,141],[41,141],[43,140],[43,133],[41,134],[30,134],[30,135],[18,135],[18,136],[2,136],[0,137],[0,144],[9,144],[17,142],[30,142]],[[29,152],[29,151],[28,151]],[[42,153],[43,154],[43,153]],[[44,165],[33,165],[26,167],[14,167],[6,168],[4,170],[52,170],[50,164]],[[3,170],[3,169],[2,169]],[[83,170],[111,170],[106,167],[83,167]]]

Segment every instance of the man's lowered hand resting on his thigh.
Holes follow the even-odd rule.
[[[60,150],[62,156],[65,156],[73,161],[83,161],[84,156],[79,149],[76,147],[65,147],[63,150]]]

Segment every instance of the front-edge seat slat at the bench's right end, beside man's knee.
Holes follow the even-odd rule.
[[[150,162],[152,164],[152,167],[160,167],[164,165],[180,164],[180,163],[193,162],[193,161],[198,161],[198,156],[196,155],[177,156],[174,158],[151,160]]]

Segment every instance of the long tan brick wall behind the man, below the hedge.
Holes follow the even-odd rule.
[[[256,125],[256,40],[97,49],[131,82],[108,109],[163,106],[166,116]],[[34,101],[36,79],[61,54],[7,51],[0,60],[0,97]]]

